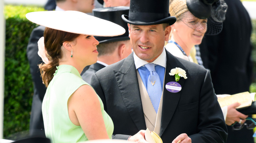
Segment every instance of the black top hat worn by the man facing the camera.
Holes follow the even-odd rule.
[[[172,25],[176,22],[176,17],[169,13],[169,0],[131,0],[129,17],[122,15],[122,19],[134,25]]]

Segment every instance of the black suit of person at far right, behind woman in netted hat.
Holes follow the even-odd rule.
[[[223,30],[215,36],[205,36],[200,45],[203,65],[211,71],[216,94],[236,94],[249,91],[252,81],[250,43],[251,20],[240,0],[225,0],[228,5]],[[227,143],[254,143],[253,131],[244,127],[234,131],[228,126]]]

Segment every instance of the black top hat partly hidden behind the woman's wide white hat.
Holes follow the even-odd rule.
[[[123,6],[93,9],[93,15],[95,17],[111,21],[115,24],[122,26],[125,29],[125,33],[123,35],[114,36],[114,37],[95,36],[96,40],[98,40],[99,43],[108,42],[108,41],[114,42],[114,41],[129,40],[130,38],[129,38],[127,23],[125,23],[121,19],[122,14],[128,14],[128,13],[129,13],[129,7],[123,7]]]

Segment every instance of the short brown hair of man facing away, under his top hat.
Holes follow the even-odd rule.
[[[128,44],[130,40],[115,41],[115,42],[104,42],[97,45],[98,56],[112,54],[120,44]]]

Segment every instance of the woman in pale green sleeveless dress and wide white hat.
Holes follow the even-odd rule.
[[[113,122],[80,73],[97,61],[99,42],[93,35],[117,36],[125,29],[78,11],[31,12],[26,17],[46,27],[38,41],[44,61],[39,68],[47,87],[42,103],[46,137],[52,143],[111,138]]]

